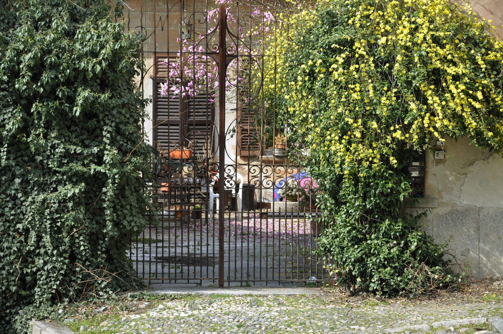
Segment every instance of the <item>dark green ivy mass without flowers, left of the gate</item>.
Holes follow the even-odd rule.
[[[75,3],[75,5],[73,5]],[[76,6],[78,5],[78,6]],[[140,43],[103,1],[0,1],[0,328],[141,282]]]

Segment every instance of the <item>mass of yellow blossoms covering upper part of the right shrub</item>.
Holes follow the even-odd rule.
[[[468,135],[501,153],[503,43],[493,27],[445,0],[376,5],[321,0],[290,17],[264,53],[275,59],[265,62],[268,106],[342,174],[397,166],[400,149],[431,136]]]

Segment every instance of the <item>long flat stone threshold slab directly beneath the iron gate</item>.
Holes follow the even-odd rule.
[[[254,296],[272,296],[272,295],[319,295],[322,294],[320,288],[306,287],[212,287],[212,286],[173,286],[173,284],[155,284],[150,286],[147,291],[158,294],[182,294],[192,293],[201,295],[226,294],[232,296],[254,295]]]

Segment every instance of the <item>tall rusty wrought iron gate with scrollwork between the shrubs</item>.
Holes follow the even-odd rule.
[[[151,283],[326,281],[314,253],[316,183],[301,163],[308,152],[288,142],[288,114],[268,105],[264,86],[274,98],[288,52],[277,41],[299,9],[218,3],[126,2],[151,65],[141,82],[153,93],[148,184],[159,218],[132,240],[130,257]]]

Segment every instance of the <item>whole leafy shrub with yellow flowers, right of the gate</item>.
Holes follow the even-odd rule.
[[[268,70],[282,74],[264,96],[289,119],[289,142],[309,149],[330,226],[319,253],[351,288],[415,294],[456,282],[445,245],[420,217],[400,217],[411,200],[402,168],[435,137],[502,152],[493,28],[444,0],[322,0],[290,23],[266,51],[282,54]]]

